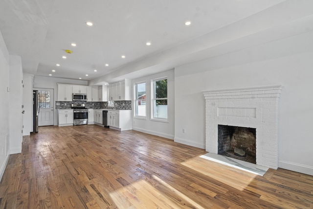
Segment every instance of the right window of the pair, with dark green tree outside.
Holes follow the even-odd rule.
[[[167,78],[152,81],[152,118],[167,120]]]

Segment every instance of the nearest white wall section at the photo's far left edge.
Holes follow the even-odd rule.
[[[0,178],[2,178],[9,152],[9,53],[0,32]]]

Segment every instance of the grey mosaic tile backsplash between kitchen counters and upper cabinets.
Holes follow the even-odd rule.
[[[86,104],[86,108],[88,109],[102,109],[106,108],[106,104],[108,102],[86,102],[86,101],[56,101],[55,109],[70,109],[71,104]],[[132,101],[115,101],[114,109],[116,110],[131,110],[132,109]]]

